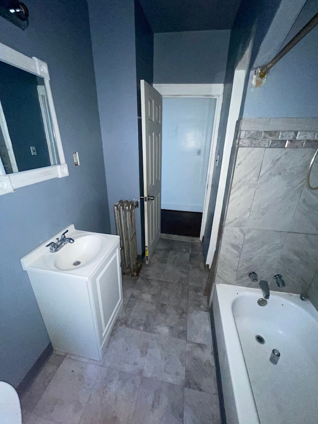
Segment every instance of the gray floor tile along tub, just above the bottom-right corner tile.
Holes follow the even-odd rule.
[[[185,387],[218,394],[212,346],[187,341]]]

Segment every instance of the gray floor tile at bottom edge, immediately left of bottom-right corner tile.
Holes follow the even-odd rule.
[[[143,377],[132,424],[183,424],[183,410],[183,387]]]

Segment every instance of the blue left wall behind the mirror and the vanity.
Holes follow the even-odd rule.
[[[27,30],[0,17],[0,40],[48,63],[70,176],[0,196],[0,380],[14,386],[49,343],[20,258],[71,223],[110,230],[86,1],[29,0],[27,6]]]

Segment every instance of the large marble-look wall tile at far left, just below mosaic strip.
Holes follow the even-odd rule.
[[[226,225],[240,228],[247,226],[264,153],[263,148],[239,148]]]

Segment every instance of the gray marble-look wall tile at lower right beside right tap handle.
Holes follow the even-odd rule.
[[[275,273],[283,275],[286,292],[308,289],[318,269],[318,236],[288,233]]]

